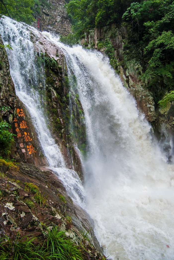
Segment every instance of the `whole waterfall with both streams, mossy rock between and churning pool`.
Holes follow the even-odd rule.
[[[15,31],[13,35],[18,43],[13,38],[9,40],[10,32],[3,29],[3,21],[11,24],[9,27]],[[167,158],[152,142],[151,126],[144,114],[137,110],[135,100],[111,69],[107,57],[81,46],[64,46],[50,34],[35,33],[33,28],[26,28],[9,18],[3,21],[3,41],[9,41],[13,48],[7,52],[16,93],[30,112],[48,160],[48,170],[58,176],[67,196],[93,218],[95,233],[105,254],[114,260],[172,259],[173,165],[166,163]],[[17,59],[18,46],[22,50],[21,59]],[[38,55],[39,49],[44,56]],[[30,55],[26,55],[26,50]],[[20,81],[12,64],[13,53],[16,53],[13,59],[22,75]],[[22,59],[24,53],[25,61]],[[33,57],[39,57],[39,66]],[[24,63],[25,73],[21,69]],[[45,78],[41,73],[43,67]],[[21,79],[26,84],[21,84]],[[46,99],[44,92],[47,93]],[[153,100],[150,96],[149,100],[151,110]],[[18,109],[16,118],[19,119],[24,110]],[[49,112],[47,116],[46,111]],[[49,122],[50,127],[45,122]],[[57,131],[53,131],[53,126]],[[68,137],[68,131],[73,136]],[[30,136],[26,133],[24,137],[28,138],[25,148]],[[69,146],[74,148],[74,156]],[[25,151],[29,155],[35,154],[31,148]],[[83,181],[73,168],[73,158],[83,161]],[[44,174],[50,175],[46,171]],[[60,185],[57,180],[56,185]],[[61,185],[58,188],[62,189]],[[24,216],[23,212],[20,214]]]

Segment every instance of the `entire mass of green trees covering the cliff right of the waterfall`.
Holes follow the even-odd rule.
[[[153,92],[155,102],[174,87],[174,2],[172,0],[71,0],[67,12],[77,41],[95,27],[116,23],[124,27],[123,65],[130,60],[141,64],[141,79]],[[113,38],[114,35],[111,35]],[[70,37],[69,37],[70,38]],[[65,39],[62,39],[64,42]],[[70,41],[69,41],[70,42]],[[109,52],[109,55],[113,52]],[[113,56],[113,55],[110,55]],[[110,57],[112,58],[112,57]],[[111,65],[115,68],[114,62]]]

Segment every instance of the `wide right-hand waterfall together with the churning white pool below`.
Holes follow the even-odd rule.
[[[2,26],[1,34],[5,41]],[[150,126],[108,60],[98,52],[80,46],[69,48],[45,35],[63,48],[69,76],[73,72],[77,79],[76,92],[85,113],[89,147],[84,160],[86,210],[95,221],[96,236],[105,255],[115,260],[173,260],[173,166],[166,164],[158,146],[152,143]],[[15,81],[14,54],[10,54],[14,50],[8,55]],[[16,82],[17,95],[30,110],[27,93]],[[38,123],[42,144],[39,129]],[[46,156],[54,158],[54,151]],[[72,174],[65,168],[60,152],[57,160],[58,172]]]

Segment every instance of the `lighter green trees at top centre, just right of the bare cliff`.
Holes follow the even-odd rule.
[[[121,20],[131,0],[71,0],[66,10],[72,20],[74,37],[81,38],[94,27],[103,27]],[[69,44],[67,42],[67,44]],[[71,42],[71,44],[75,44]]]

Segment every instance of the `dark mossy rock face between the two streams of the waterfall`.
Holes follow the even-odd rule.
[[[73,153],[74,144],[78,144],[86,153],[86,128],[82,105],[76,93],[76,78],[68,78],[66,66],[62,66],[46,53],[36,55],[40,76],[39,93],[43,108],[49,120],[50,131],[55,139],[62,140],[69,153]],[[44,75],[42,75],[44,73]],[[44,79],[43,79],[44,77]],[[72,91],[70,91],[72,89]]]

